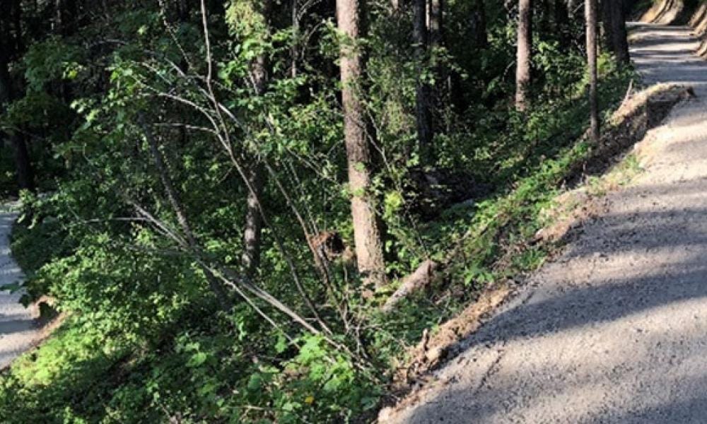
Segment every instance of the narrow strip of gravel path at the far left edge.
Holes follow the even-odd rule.
[[[23,278],[20,267],[10,256],[10,232],[15,213],[0,213],[0,285]],[[30,310],[19,303],[21,293],[0,291],[0,369],[27,351],[40,338]]]

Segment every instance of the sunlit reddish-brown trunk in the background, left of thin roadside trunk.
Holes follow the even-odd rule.
[[[515,109],[527,109],[532,49],[532,0],[518,1],[518,51],[515,70]]]

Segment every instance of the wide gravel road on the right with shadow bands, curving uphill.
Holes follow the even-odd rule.
[[[707,422],[707,62],[643,25],[647,83],[697,98],[648,135],[646,172],[386,423]]]

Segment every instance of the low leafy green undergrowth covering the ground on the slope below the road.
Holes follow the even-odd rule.
[[[609,114],[635,74],[604,65],[600,100]],[[28,273],[30,296],[59,296],[69,317],[0,378],[4,422],[240,423],[273,416],[279,423],[321,423],[375,411],[392,367],[404,362],[423,329],[436,329],[493,281],[543,263],[547,249],[529,241],[547,224],[542,211],[573,166],[592,155],[581,138],[586,113],[583,90],[576,90],[475,130],[467,142],[481,138],[479,149],[493,151],[455,160],[468,161],[496,189],[416,229],[433,258],[450,250],[455,257],[431,293],[361,329],[375,358],[368,364],[317,336],[287,340],[246,305],[218,312],[211,298],[189,292],[193,285],[185,281],[199,276],[180,257],[141,257],[100,232],[67,234],[60,220],[71,204],[25,195],[13,252]],[[506,136],[498,137],[501,127]],[[486,143],[489,134],[498,142]]]

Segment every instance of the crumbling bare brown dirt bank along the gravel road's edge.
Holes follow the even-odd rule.
[[[583,175],[599,175],[617,163],[624,153],[641,141],[645,134],[658,126],[681,100],[691,97],[691,91],[683,86],[659,84],[627,96],[623,105],[614,112],[599,145],[592,148],[589,157],[575,165],[569,180],[581,181]],[[640,145],[636,146],[636,149]],[[617,187],[604,187],[611,190]],[[597,215],[601,206],[597,199],[587,194],[585,187],[566,192],[557,200],[553,211],[548,211],[554,222],[541,230],[532,240],[533,244],[556,245],[569,238],[571,230],[580,223]],[[548,249],[551,249],[549,246]],[[464,339],[479,329],[491,312],[513,297],[518,286],[513,281],[501,281],[481,293],[477,302],[469,305],[454,319],[446,322],[435,334],[424,334],[422,340],[410,353],[409,363],[399,369],[395,391],[403,396],[411,391],[395,408],[386,408],[381,421],[394,414],[392,411],[414,404],[420,389],[426,389],[431,372],[448,363],[465,348]]]

